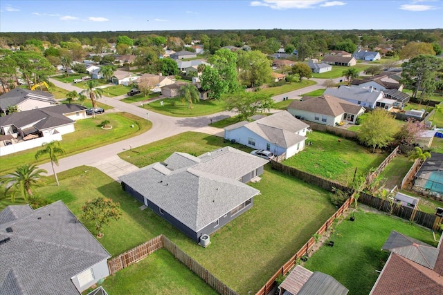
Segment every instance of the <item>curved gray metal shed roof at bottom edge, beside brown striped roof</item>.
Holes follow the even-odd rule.
[[[314,272],[297,295],[346,295],[347,292],[349,290],[332,276]]]

